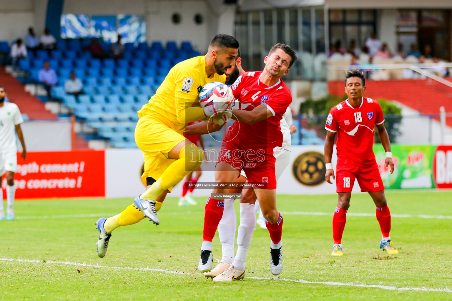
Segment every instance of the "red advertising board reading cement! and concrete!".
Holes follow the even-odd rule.
[[[2,179],[2,188],[6,179]],[[16,199],[105,196],[105,151],[17,154]]]

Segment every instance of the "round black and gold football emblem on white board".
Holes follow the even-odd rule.
[[[319,152],[306,152],[298,156],[292,165],[292,174],[300,184],[320,185],[325,181],[325,156]]]

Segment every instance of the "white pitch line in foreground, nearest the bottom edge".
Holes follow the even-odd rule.
[[[147,271],[147,272],[163,272],[169,274],[178,274],[178,275],[190,275],[193,273],[184,273],[178,271],[170,271],[165,269],[151,269],[151,268],[130,268],[130,267],[110,267],[104,265],[97,264],[86,264],[86,263],[78,263],[72,261],[56,261],[56,260],[33,260],[33,259],[14,259],[14,258],[0,258],[1,261],[9,261],[9,262],[18,262],[18,263],[32,263],[32,264],[65,264],[65,265],[74,265],[81,267],[93,267],[93,268],[104,268],[104,269],[119,269],[119,270],[134,270],[134,271]],[[202,276],[202,274],[194,274],[196,276]],[[345,283],[345,282],[334,282],[334,281],[308,281],[303,279],[289,279],[289,278],[268,278],[268,277],[246,277],[247,279],[256,279],[256,280],[275,280],[275,281],[286,281],[286,282],[297,282],[297,283],[306,283],[306,284],[325,284],[330,286],[346,286],[346,287],[369,287],[369,288],[379,288],[382,290],[389,291],[415,291],[415,292],[452,292],[449,288],[426,288],[426,287],[393,287],[387,285],[378,285],[378,284],[355,284],[355,283]]]

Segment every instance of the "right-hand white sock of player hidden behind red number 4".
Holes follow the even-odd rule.
[[[256,227],[254,204],[240,204],[240,225],[237,234],[237,254],[232,264],[240,271],[245,270],[245,259]]]

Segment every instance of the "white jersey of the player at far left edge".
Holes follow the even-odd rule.
[[[0,153],[17,152],[16,125],[24,122],[15,103],[4,102],[0,107]]]

